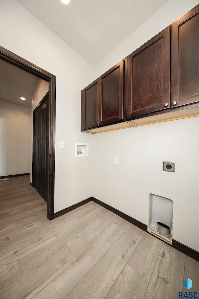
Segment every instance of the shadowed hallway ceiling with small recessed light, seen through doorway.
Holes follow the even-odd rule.
[[[0,59],[0,100],[31,108],[32,93],[39,80]]]

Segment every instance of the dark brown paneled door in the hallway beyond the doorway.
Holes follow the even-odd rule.
[[[34,185],[47,201],[49,175],[49,93],[34,110]]]

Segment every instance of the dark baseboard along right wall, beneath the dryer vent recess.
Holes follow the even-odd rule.
[[[99,204],[100,206],[103,206],[104,208],[106,208],[107,210],[113,212],[114,214],[120,216],[121,218],[127,220],[128,222],[134,224],[135,226],[139,227],[141,230],[144,230],[147,232],[147,225],[132,218],[131,216],[128,216],[127,214],[113,208],[112,206],[109,206],[107,205],[106,203],[104,202],[101,202],[99,199],[96,199],[95,197],[90,197],[91,200],[93,202],[96,202],[97,204]],[[150,234],[149,232],[147,232],[148,234]],[[152,235],[152,234],[150,234]],[[154,236],[154,235],[152,235]],[[158,238],[156,236],[154,236],[155,238]],[[158,238],[159,239],[159,238]],[[162,242],[164,242],[163,240],[161,240]],[[166,244],[168,244],[167,242],[164,242]],[[172,240],[172,245],[171,244],[168,244],[169,246],[177,249],[178,251],[190,256],[192,259],[195,259],[196,261],[199,262],[199,252],[197,252],[196,250],[176,241],[176,240]]]

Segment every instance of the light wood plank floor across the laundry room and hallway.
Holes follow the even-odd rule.
[[[0,181],[0,298],[174,299],[187,278],[199,292],[197,261],[95,202],[49,221],[29,182]]]

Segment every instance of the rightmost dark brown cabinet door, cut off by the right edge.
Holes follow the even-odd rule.
[[[199,102],[199,5],[171,25],[171,102]]]

